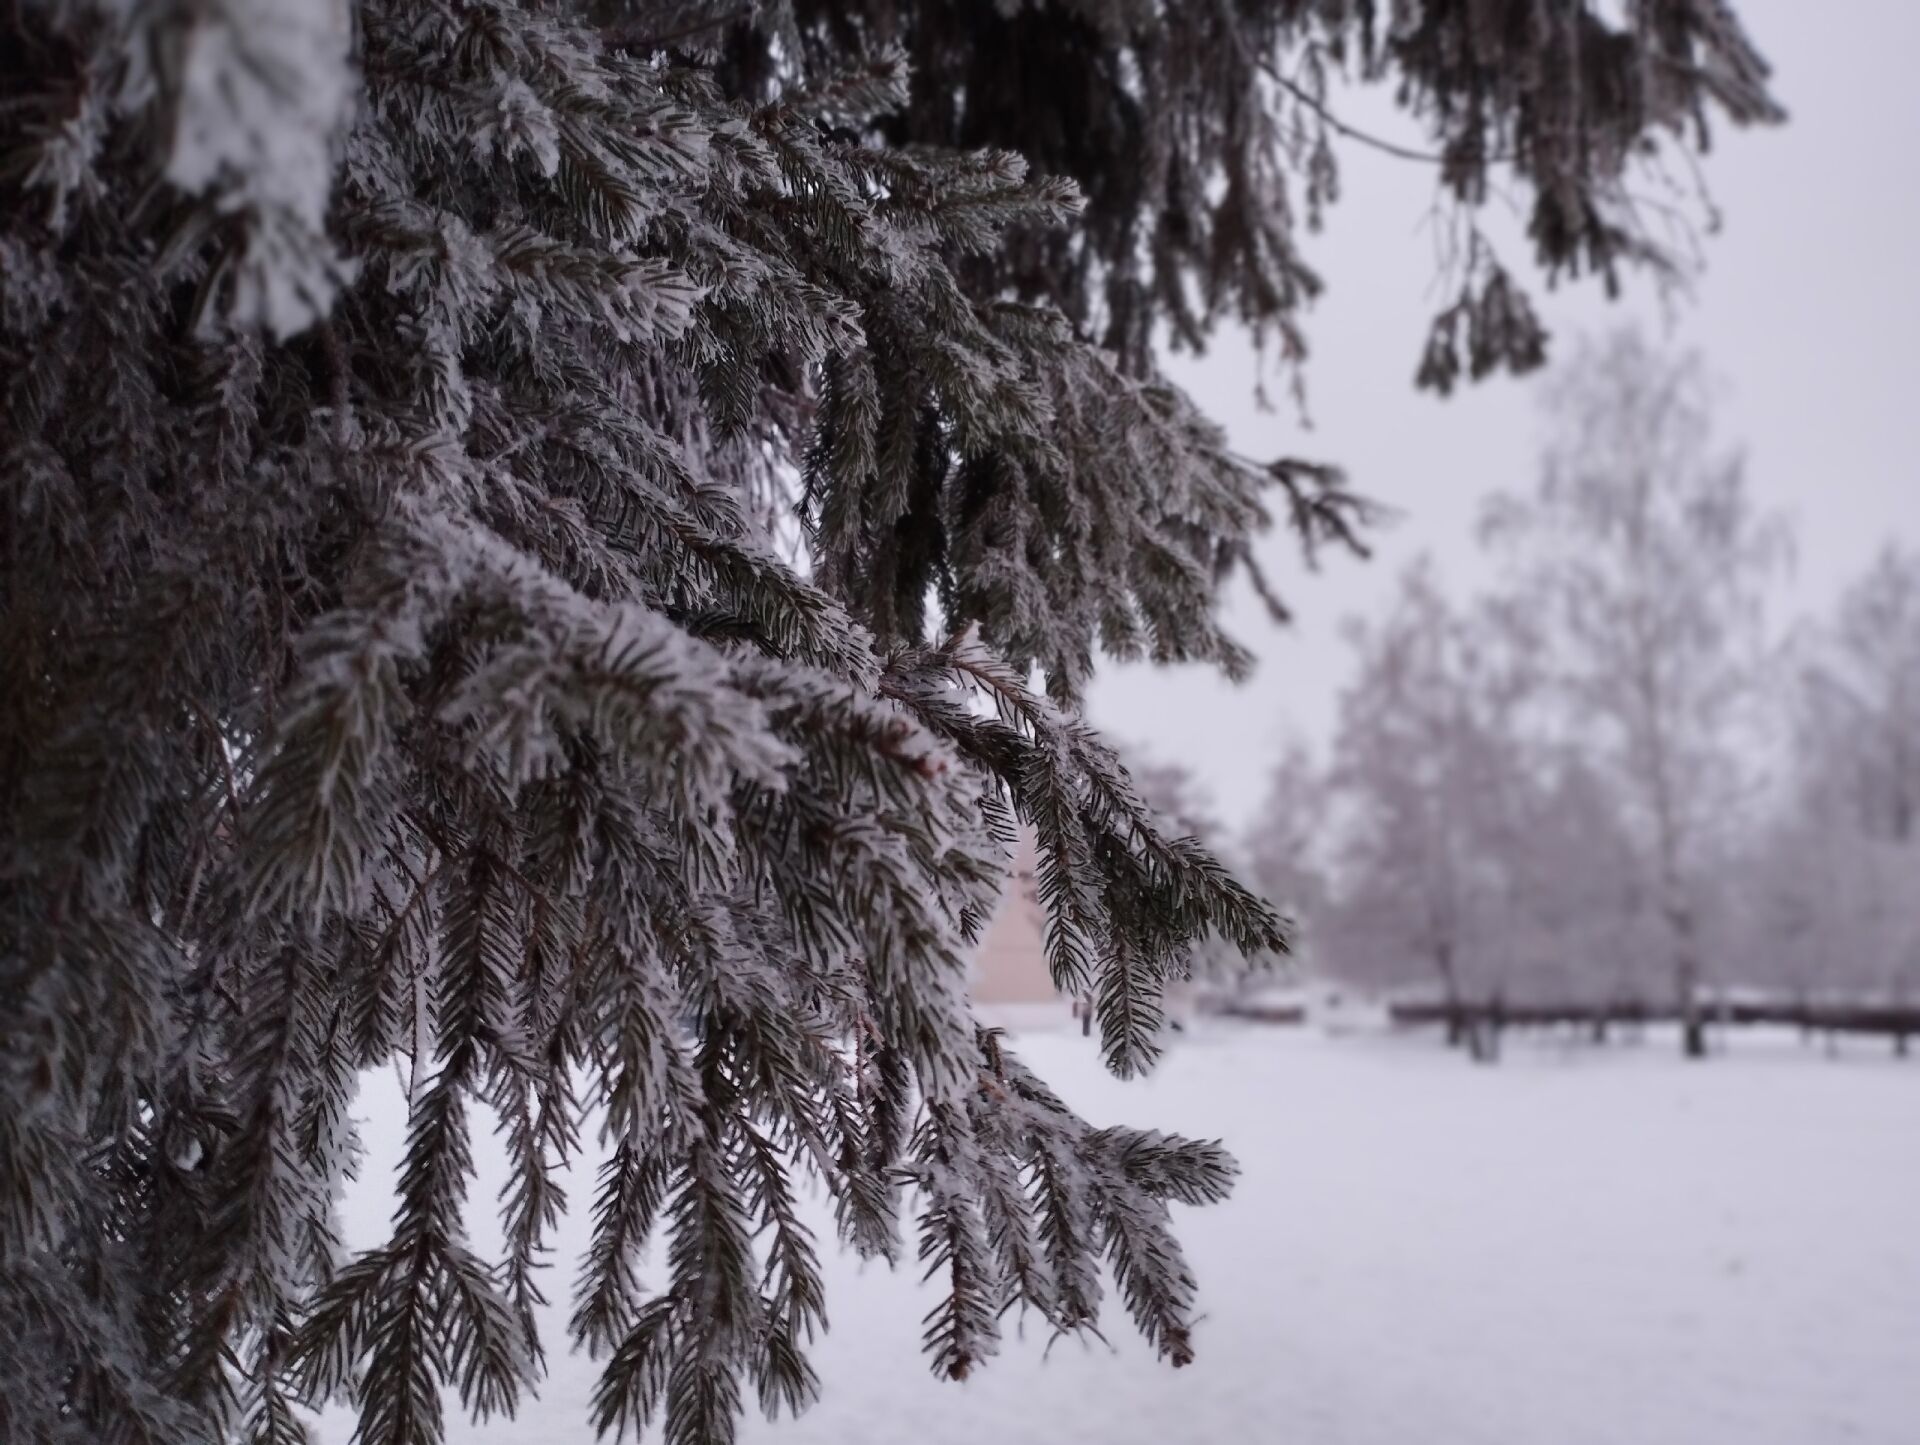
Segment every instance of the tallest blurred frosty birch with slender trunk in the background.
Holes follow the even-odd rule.
[[[1567,731],[1630,808],[1693,1057],[1701,890],[1747,798],[1743,727],[1786,547],[1740,459],[1713,451],[1705,388],[1697,359],[1617,332],[1549,391],[1540,484],[1496,497],[1484,522],[1551,660]]]

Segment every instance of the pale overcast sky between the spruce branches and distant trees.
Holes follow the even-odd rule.
[[[1724,228],[1705,240],[1692,292],[1663,301],[1642,276],[1611,305],[1588,284],[1534,296],[1555,355],[1578,332],[1628,319],[1707,353],[1722,382],[1720,441],[1745,449],[1757,497],[1795,518],[1793,604],[1820,608],[1885,539],[1920,543],[1920,0],[1736,10],[1774,65],[1789,121],[1716,132],[1705,177]],[[1417,144],[1384,96],[1350,94],[1338,109]],[[1308,315],[1311,430],[1284,399],[1271,413],[1256,405],[1242,336],[1223,334],[1208,357],[1177,357],[1169,370],[1238,449],[1336,461],[1404,516],[1377,535],[1371,562],[1331,558],[1311,576],[1288,537],[1267,537],[1269,574],[1296,622],[1275,628],[1244,585],[1235,591],[1229,626],[1261,658],[1252,681],[1110,664],[1092,687],[1106,731],[1187,760],[1231,823],[1258,806],[1284,737],[1321,748],[1331,739],[1348,675],[1340,618],[1377,610],[1423,551],[1469,591],[1480,499],[1528,486],[1540,447],[1528,382],[1494,378],[1448,401],[1413,390],[1436,309],[1430,169],[1352,144],[1342,167],[1342,200],[1308,240],[1327,280]],[[1513,246],[1503,255],[1524,261]]]

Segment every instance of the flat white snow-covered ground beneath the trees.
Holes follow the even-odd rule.
[[[1920,1059],[1519,1044],[1473,1069],[1428,1040],[1231,1030],[1116,1084],[1077,1036],[1020,1048],[1096,1121],[1238,1153],[1233,1201],[1185,1217],[1198,1362],[1154,1364],[1116,1313],[1112,1351],[1043,1361],[1029,1330],[968,1384],[937,1382],[918,1272],[849,1261],[816,1353],[826,1399],[749,1422],[749,1441],[1920,1441]],[[349,1199],[355,1244],[384,1232],[378,1174]],[[591,1382],[557,1353],[518,1422],[455,1418],[451,1439],[584,1443]]]

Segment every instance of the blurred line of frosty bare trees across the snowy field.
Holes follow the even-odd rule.
[[[1244,839],[1311,967],[1476,1046],[1488,1019],[1678,1019],[1690,1054],[1715,1019],[1910,1025],[1920,555],[1788,620],[1791,530],[1707,393],[1632,332],[1588,345],[1534,487],[1484,507],[1482,585],[1423,558],[1350,624],[1331,756],[1292,748]]]

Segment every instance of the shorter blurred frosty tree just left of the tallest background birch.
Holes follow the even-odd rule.
[[[1340,846],[1317,958],[1377,984],[1619,1007],[1651,994],[1649,898],[1611,781],[1548,706],[1540,629],[1513,597],[1455,603],[1417,562],[1356,624],[1334,766]]]

